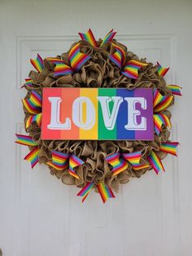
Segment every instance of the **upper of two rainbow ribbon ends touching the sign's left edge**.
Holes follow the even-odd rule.
[[[35,90],[32,90],[31,95],[28,99],[22,99],[24,108],[28,110],[28,113],[37,114],[41,113],[41,102],[42,98]]]

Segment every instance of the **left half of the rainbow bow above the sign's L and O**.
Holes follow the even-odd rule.
[[[72,74],[72,68],[65,64],[63,60],[58,58],[46,58],[46,60],[50,60],[55,64],[54,77]]]

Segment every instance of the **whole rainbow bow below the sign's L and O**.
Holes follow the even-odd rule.
[[[47,162],[48,166],[51,166],[56,170],[63,170],[68,168],[69,174],[71,174],[76,179],[80,178],[76,174],[74,168],[83,164],[84,161],[82,161],[79,157],[76,157],[74,154],[63,153],[56,150],[52,151],[52,161]]]

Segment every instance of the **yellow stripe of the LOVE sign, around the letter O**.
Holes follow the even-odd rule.
[[[98,139],[98,89],[91,89],[87,90],[85,88],[81,88],[80,90],[80,96],[85,96],[88,97],[91,101],[92,104],[94,104],[94,109],[95,109],[95,123],[94,126],[90,130],[83,130],[80,129],[80,135],[79,139]],[[86,120],[86,106],[83,106],[83,121]]]

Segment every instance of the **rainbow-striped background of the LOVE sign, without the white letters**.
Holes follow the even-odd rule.
[[[106,115],[108,118],[114,108],[113,97],[120,97],[120,107],[116,114],[114,125],[107,128]],[[50,127],[50,113],[51,113],[51,97],[59,97],[59,122],[65,123],[66,120],[70,121],[70,127],[68,129],[52,129]],[[81,115],[76,118],[80,118],[80,122],[83,124],[85,121],[91,121],[90,117],[94,117],[93,123],[90,124],[89,129],[83,129],[81,126],[77,126],[74,115],[76,110],[72,111],[74,101],[79,97],[89,100],[89,105],[92,108],[87,108],[85,101],[81,105],[76,104],[77,109],[82,109]],[[107,101],[107,113],[103,117],[103,107],[98,97],[108,97]],[[125,126],[129,120],[129,107],[128,101],[125,98],[144,98],[146,100],[146,108],[142,108],[141,104],[136,103],[136,108],[139,111],[139,115],[136,118],[137,123],[141,123],[141,117],[146,118],[145,130],[129,130]],[[42,121],[41,121],[41,138],[42,139],[145,139],[153,140],[154,125],[153,125],[153,95],[152,89],[139,88],[135,90],[127,89],[105,89],[105,88],[43,88],[42,97]],[[128,99],[129,100],[129,99]],[[89,118],[87,115],[89,113]]]

